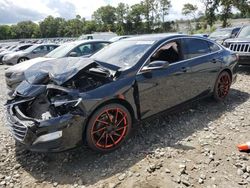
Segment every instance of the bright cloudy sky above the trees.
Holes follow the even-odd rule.
[[[65,19],[74,18],[79,14],[90,19],[92,13],[100,6],[117,6],[119,2],[129,5],[141,0],[0,0],[0,24],[12,24],[24,20],[38,22],[45,17],[52,15]],[[198,0],[172,0],[172,8],[168,16],[169,20],[179,19],[183,4],[196,4],[199,9],[202,5]]]

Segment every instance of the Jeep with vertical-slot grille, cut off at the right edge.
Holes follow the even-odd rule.
[[[223,45],[239,55],[239,64],[250,65],[250,25],[243,27],[236,38],[226,40]]]

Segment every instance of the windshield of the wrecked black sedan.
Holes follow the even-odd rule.
[[[99,62],[128,69],[141,59],[153,43],[154,41],[122,40],[105,47],[91,58]]]

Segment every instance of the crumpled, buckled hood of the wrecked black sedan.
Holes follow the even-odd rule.
[[[35,64],[26,70],[24,74],[29,83],[34,83],[37,77],[46,76],[45,73],[47,72],[50,80],[57,85],[62,85],[84,68],[89,69],[96,65],[97,63],[90,58],[65,57]]]

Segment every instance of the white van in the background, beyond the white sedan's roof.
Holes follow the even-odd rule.
[[[113,32],[97,32],[93,34],[82,35],[78,38],[78,40],[110,40],[111,38],[116,37],[117,34]]]

